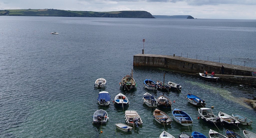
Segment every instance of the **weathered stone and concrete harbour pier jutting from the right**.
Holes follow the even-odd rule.
[[[224,75],[222,75],[222,65],[224,66]],[[207,70],[208,74],[210,74],[214,71],[216,74],[215,77],[219,77],[222,81],[256,87],[256,77],[252,76],[252,72],[256,72],[256,68],[252,67],[191,59],[175,55],[153,54],[134,55],[133,66],[162,67],[187,73],[204,73],[204,70]]]

